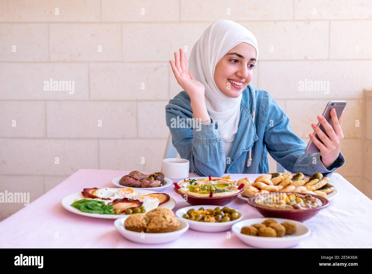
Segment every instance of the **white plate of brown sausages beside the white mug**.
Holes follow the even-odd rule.
[[[173,181],[161,172],[143,174],[140,171],[132,171],[129,174],[115,177],[112,183],[119,188],[133,188],[146,190],[160,190],[173,185]]]

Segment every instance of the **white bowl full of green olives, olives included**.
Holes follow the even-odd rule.
[[[192,205],[176,211],[176,216],[184,218],[190,229],[203,232],[221,232],[243,218],[240,210],[215,205]]]

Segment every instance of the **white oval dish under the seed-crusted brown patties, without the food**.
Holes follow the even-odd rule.
[[[189,229],[189,223],[183,218],[176,219],[180,222],[180,230],[167,232],[167,233],[145,233],[145,232],[134,232],[126,230],[124,227],[124,221],[126,218],[121,218],[115,221],[114,225],[118,232],[122,234],[126,239],[143,244],[160,244],[169,243],[179,238],[183,233]]]

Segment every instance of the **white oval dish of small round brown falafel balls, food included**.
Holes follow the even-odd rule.
[[[282,218],[254,218],[235,223],[232,232],[256,248],[289,248],[311,233],[307,225]]]

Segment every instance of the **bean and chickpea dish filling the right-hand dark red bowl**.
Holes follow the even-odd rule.
[[[283,210],[307,210],[323,204],[320,199],[309,194],[282,192],[258,195],[254,201],[263,207]]]

